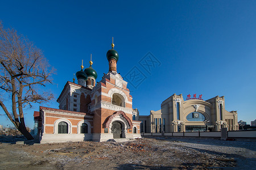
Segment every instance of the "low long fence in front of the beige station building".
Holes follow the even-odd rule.
[[[171,132],[171,133],[141,133],[142,136],[163,137],[210,137],[221,138],[221,131],[194,131],[194,132]],[[228,138],[256,138],[256,130],[227,131]]]

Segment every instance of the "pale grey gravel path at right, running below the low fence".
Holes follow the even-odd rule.
[[[221,141],[218,139],[157,138],[172,143],[170,148],[193,155],[222,155],[237,161],[233,169],[256,169],[256,141]]]

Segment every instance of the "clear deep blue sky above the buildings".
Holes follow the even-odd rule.
[[[256,119],[255,8],[256,1],[10,0],[0,2],[0,20],[33,41],[57,70],[55,84],[44,89],[55,94],[46,107],[58,108],[65,83],[82,59],[89,66],[90,53],[100,82],[114,37],[118,73],[141,75],[130,78],[134,86],[128,83],[141,115],[159,110],[172,94],[202,94],[204,100],[219,95],[227,111],[238,111],[238,121],[250,124]],[[148,70],[140,63],[151,54],[156,62],[148,62]],[[30,128],[34,111],[39,105],[24,111]],[[10,124],[6,116],[0,119],[0,125]]]

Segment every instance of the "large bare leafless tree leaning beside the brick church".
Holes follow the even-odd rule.
[[[33,137],[26,129],[23,108],[53,98],[51,92],[41,88],[52,84],[52,73],[42,50],[15,29],[3,28],[0,22],[0,106],[28,140]]]

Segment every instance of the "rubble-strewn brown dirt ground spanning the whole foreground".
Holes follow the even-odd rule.
[[[0,137],[0,169],[243,169],[245,163],[254,169],[256,163],[255,141],[141,138],[119,143],[13,143]]]

